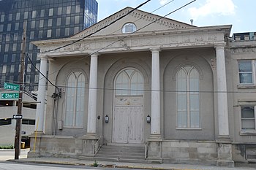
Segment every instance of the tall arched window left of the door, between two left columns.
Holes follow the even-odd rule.
[[[72,72],[67,78],[66,109],[64,126],[83,127],[85,77],[81,72]]]

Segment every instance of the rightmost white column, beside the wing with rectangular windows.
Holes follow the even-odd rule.
[[[227,79],[225,66],[225,45],[215,45],[217,58],[217,89],[218,89],[218,122],[219,136],[229,137],[228,112],[227,112]]]

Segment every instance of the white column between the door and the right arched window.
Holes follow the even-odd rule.
[[[151,49],[151,136],[160,136],[160,49]]]

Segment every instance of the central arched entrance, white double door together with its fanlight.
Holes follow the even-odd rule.
[[[115,78],[113,142],[143,143],[144,79],[137,69],[121,70]]]

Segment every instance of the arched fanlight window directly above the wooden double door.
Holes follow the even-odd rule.
[[[126,69],[116,78],[116,96],[143,95],[144,80],[140,72]]]

